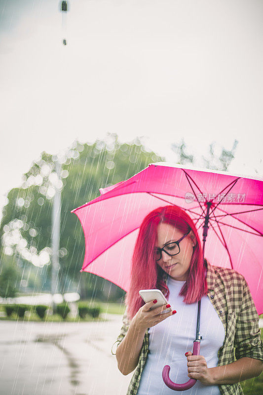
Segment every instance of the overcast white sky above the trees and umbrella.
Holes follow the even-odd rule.
[[[0,0],[0,210],[42,151],[107,132],[167,160],[215,141],[263,174],[262,0]],[[85,197],[83,197],[85,201]]]

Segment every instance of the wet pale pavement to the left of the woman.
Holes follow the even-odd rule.
[[[111,348],[121,315],[104,322],[0,321],[0,395],[125,395]]]

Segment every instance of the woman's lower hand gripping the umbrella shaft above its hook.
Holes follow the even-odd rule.
[[[188,377],[199,380],[204,385],[213,385],[214,378],[211,370],[207,367],[205,357],[202,355],[192,355],[191,352],[186,353]]]

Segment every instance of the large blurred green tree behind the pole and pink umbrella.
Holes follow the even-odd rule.
[[[80,275],[85,243],[80,222],[71,210],[100,196],[99,188],[126,180],[147,167],[149,163],[162,160],[165,158],[147,151],[138,138],[130,144],[121,144],[116,134],[108,133],[106,141],[96,140],[90,145],[74,142],[62,164],[59,271],[61,292],[76,288],[72,284],[74,282],[82,297],[109,300],[111,295],[113,298],[123,296],[123,291],[107,280],[89,273]],[[23,259],[27,259],[28,256],[28,260],[33,262],[34,259],[37,260],[39,251],[51,255],[51,195],[54,168],[54,157],[43,152],[41,158],[34,162],[24,175],[22,187],[14,188],[8,193],[8,203],[3,209],[0,225],[0,237],[12,230],[14,241],[12,244],[9,240],[9,254],[20,257],[24,254]],[[50,278],[50,265],[42,266],[42,271],[47,267],[44,289]]]

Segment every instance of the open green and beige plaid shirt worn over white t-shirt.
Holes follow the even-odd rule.
[[[167,283],[168,275],[165,277]],[[207,262],[208,297],[225,328],[225,340],[218,351],[218,366],[227,365],[244,356],[263,360],[259,316],[245,278],[232,269],[212,266]],[[202,308],[202,307],[201,307]],[[130,321],[126,311],[118,345],[128,331]],[[136,395],[149,350],[149,328],[142,345],[138,365],[126,395]],[[202,344],[202,343],[201,343]],[[218,385],[222,395],[243,394],[239,383]]]

